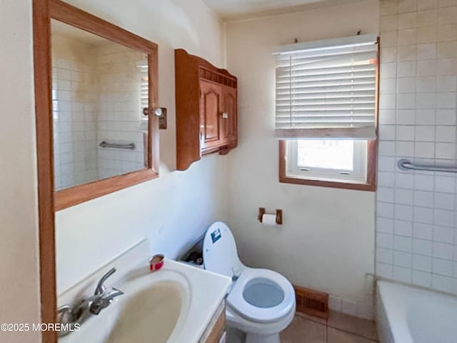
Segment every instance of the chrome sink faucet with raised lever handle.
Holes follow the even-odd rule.
[[[92,315],[98,315],[102,309],[109,307],[114,298],[124,294],[119,289],[106,288],[104,285],[106,279],[111,277],[115,272],[116,268],[113,268],[101,277],[92,297],[81,300],[75,307],[69,307],[68,305],[59,307],[57,313],[61,314],[61,322],[64,322],[63,324],[69,324],[70,327],[74,327],[74,324],[83,324]],[[66,336],[70,332],[61,331],[60,336]]]

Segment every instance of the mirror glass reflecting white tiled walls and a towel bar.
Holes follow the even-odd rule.
[[[147,139],[146,54],[76,28],[81,34],[60,32],[64,25],[53,21],[56,190],[143,169]],[[101,141],[136,147],[103,148]]]

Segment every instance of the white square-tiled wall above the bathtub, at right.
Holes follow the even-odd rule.
[[[457,0],[381,0],[376,274],[457,293]]]

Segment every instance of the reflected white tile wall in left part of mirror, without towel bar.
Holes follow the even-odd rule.
[[[52,37],[56,190],[97,179],[96,84],[91,46]]]

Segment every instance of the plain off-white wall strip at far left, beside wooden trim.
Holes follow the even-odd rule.
[[[39,314],[36,145],[31,1],[0,0],[0,322]],[[39,332],[0,332],[40,342]]]

